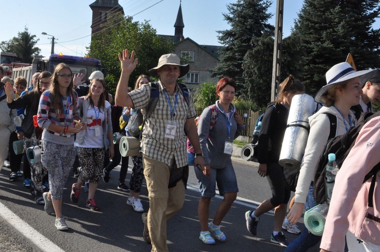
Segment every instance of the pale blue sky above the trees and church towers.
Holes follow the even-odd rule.
[[[2,0],[2,2],[5,0]],[[4,21],[0,41],[8,41],[25,27],[36,35],[37,47],[41,55],[51,52],[51,36],[55,37],[55,53],[85,56],[86,47],[91,41],[92,10],[89,5],[95,0],[12,0],[7,1],[6,9],[19,15]],[[220,46],[216,31],[230,29],[223,20],[223,13],[228,13],[227,5],[237,0],[182,0],[183,36],[189,37],[200,45]],[[273,14],[270,23],[275,25],[276,0],[269,9]],[[133,21],[149,21],[157,34],[174,35],[174,23],[180,0],[119,0],[127,16]],[[283,37],[290,35],[294,19],[301,9],[303,0],[284,0]],[[7,24],[8,23],[8,24]],[[374,24],[380,28],[380,20]],[[46,32],[50,35],[42,35]]]

